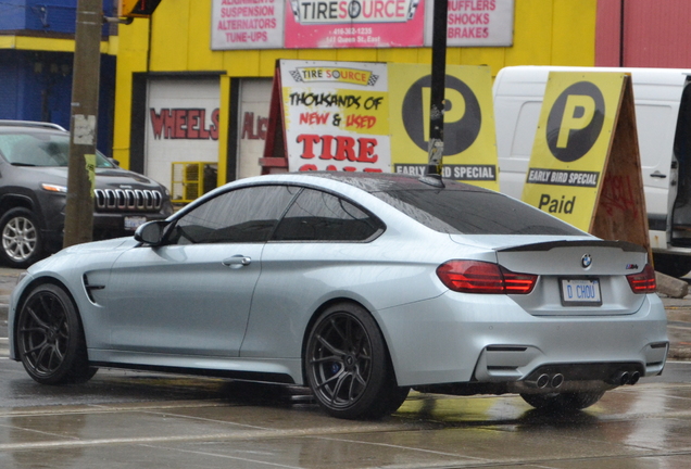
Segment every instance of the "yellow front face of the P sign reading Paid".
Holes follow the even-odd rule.
[[[623,73],[550,73],[525,202],[591,230],[626,78]]]

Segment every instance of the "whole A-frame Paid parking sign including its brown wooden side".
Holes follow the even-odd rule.
[[[629,75],[550,73],[523,200],[601,238],[649,246]]]

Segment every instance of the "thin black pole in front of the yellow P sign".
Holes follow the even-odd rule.
[[[444,88],[447,86],[447,13],[449,0],[435,0],[432,17],[431,99],[429,113],[429,160],[425,182],[443,187],[441,170],[444,153]]]

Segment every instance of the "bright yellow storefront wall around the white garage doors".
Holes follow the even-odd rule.
[[[277,59],[430,64],[430,48],[211,50],[211,0],[163,0],[151,20],[120,26],[113,156],[129,167],[133,74],[223,72],[218,180],[225,181],[229,80],[272,77]],[[489,65],[492,76],[510,65],[585,65],[595,62],[598,0],[515,0],[514,45],[450,48],[447,63]]]

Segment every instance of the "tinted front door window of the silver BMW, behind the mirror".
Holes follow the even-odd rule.
[[[169,242],[264,242],[297,192],[297,188],[288,186],[259,186],[226,192],[181,217]]]

